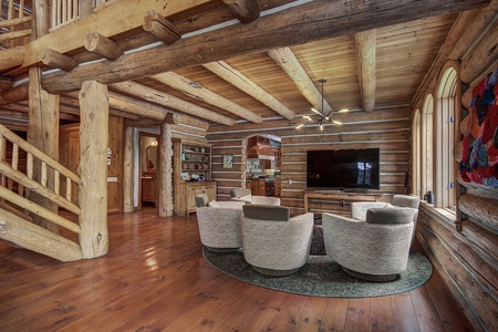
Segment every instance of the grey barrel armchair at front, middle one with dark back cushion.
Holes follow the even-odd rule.
[[[313,231],[313,214],[290,218],[288,207],[245,205],[243,257],[263,274],[288,276],[307,261]]]

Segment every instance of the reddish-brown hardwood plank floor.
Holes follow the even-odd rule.
[[[110,253],[76,262],[0,242],[0,331],[471,331],[436,271],[391,297],[304,297],[211,268],[195,215],[147,208],[108,229]]]

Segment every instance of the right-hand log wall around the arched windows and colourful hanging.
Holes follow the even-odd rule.
[[[498,65],[497,12],[498,1],[495,0],[489,7],[469,15],[460,14],[456,24],[466,29],[455,29],[460,34],[448,37],[448,40],[458,42],[445,53],[446,59],[439,59],[440,63],[445,60],[460,62],[463,135],[468,134],[465,128],[469,121],[467,114],[473,87]],[[427,76],[435,77],[438,73],[435,69]],[[461,159],[461,154],[463,144],[457,143],[454,149],[457,162]],[[418,214],[417,238],[475,330],[497,331],[498,188],[464,183],[461,178],[459,184],[463,193],[458,197],[456,218],[423,203]]]

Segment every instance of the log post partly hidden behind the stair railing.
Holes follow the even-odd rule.
[[[42,151],[54,160],[59,160],[59,95],[48,93],[41,87],[41,68],[34,66],[30,69],[29,83],[29,124],[28,124],[28,142]],[[38,183],[42,180],[42,165],[34,163],[33,179]],[[54,189],[53,173],[48,174],[46,186]],[[49,199],[30,193],[30,199],[42,207],[56,212],[58,206]],[[33,215],[34,224],[46,228],[48,230],[58,234],[59,226],[50,222],[37,215]]]

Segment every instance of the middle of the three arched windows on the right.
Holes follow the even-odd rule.
[[[421,116],[421,196],[433,190],[433,112],[434,97],[427,93]]]

